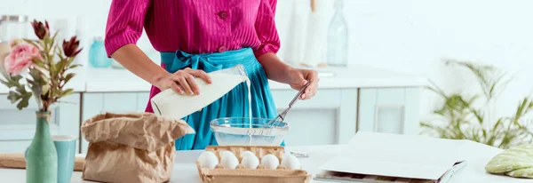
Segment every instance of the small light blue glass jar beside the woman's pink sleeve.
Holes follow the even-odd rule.
[[[104,39],[101,37],[94,38],[89,50],[89,62],[93,68],[108,68],[113,60],[107,58]]]

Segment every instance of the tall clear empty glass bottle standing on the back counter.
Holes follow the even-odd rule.
[[[342,8],[344,0],[335,2],[335,15],[330,21],[328,30],[328,65],[346,67],[348,64],[348,25],[344,18]]]

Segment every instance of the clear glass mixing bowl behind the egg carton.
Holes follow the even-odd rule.
[[[280,146],[289,124],[280,122],[264,128],[270,119],[227,117],[211,121],[211,130],[219,146]]]

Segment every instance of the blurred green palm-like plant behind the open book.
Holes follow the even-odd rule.
[[[447,60],[447,64],[466,68],[476,77],[481,87],[481,94],[466,96],[461,92],[446,93],[436,84],[427,89],[434,91],[444,99],[441,107],[434,110],[434,115],[441,120],[422,122],[420,125],[428,134],[443,139],[470,139],[492,147],[509,148],[533,142],[533,132],[522,118],[533,110],[533,99],[522,98],[511,116],[493,117],[495,99],[513,76],[509,77],[502,70],[476,65],[471,62]],[[481,102],[481,107],[479,105]],[[443,123],[437,124],[435,122]]]

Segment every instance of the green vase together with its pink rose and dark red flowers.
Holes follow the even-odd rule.
[[[55,42],[48,22],[31,23],[38,40],[15,39],[10,52],[0,64],[4,78],[0,82],[10,88],[7,99],[17,108],[28,107],[30,98],[36,99],[36,133],[26,152],[27,182],[57,182],[57,153],[50,134],[52,105],[74,92],[66,84],[75,76],[68,72],[80,65],[73,64],[81,52],[76,36]]]

